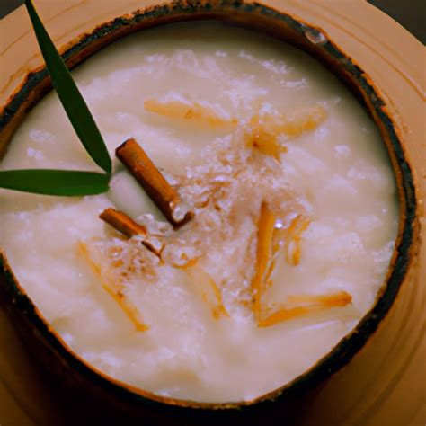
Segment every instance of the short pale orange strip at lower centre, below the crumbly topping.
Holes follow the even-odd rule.
[[[204,271],[199,264],[194,264],[191,268],[187,268],[186,271],[202,299],[210,306],[211,314],[216,319],[222,315],[229,316],[222,301],[222,293],[209,273]]]

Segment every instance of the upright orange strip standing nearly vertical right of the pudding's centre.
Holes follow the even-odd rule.
[[[257,224],[256,269],[252,280],[253,306],[256,321],[260,319],[262,292],[273,269],[271,261],[273,257],[272,243],[274,228],[275,217],[268,203],[262,201],[261,213]]]

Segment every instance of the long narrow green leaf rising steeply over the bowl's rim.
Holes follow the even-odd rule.
[[[31,0],[25,0],[25,5],[30,14],[32,26],[48,67],[53,87],[67,112],[68,119],[93,161],[102,167],[106,173],[111,173],[110,155],[103,142],[101,132],[84,102],[83,96],[69,74],[64,60],[58,54],[58,50],[52,40],[50,40],[49,34],[40,21],[40,17]]]

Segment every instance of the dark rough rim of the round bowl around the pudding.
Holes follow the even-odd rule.
[[[49,326],[47,320],[26,295],[0,252],[0,284],[10,297],[13,306],[24,315],[40,334],[40,338],[61,359],[68,368],[81,374],[96,386],[102,386],[111,395],[134,404],[145,404],[151,408],[172,408],[170,405],[202,409],[240,408],[267,400],[281,399],[289,395],[298,395],[306,389],[319,384],[324,378],[347,364],[350,359],[364,346],[368,338],[377,330],[378,324],[386,316],[395,301],[401,284],[408,270],[419,241],[419,222],[417,219],[418,204],[413,173],[407,162],[400,133],[386,110],[386,103],[381,99],[377,88],[368,75],[357,63],[348,57],[342,49],[329,39],[319,28],[306,22],[280,13],[258,3],[241,3],[240,1],[179,1],[161,4],[146,10],[117,18],[97,27],[92,33],[84,35],[76,42],[68,45],[64,58],[70,67],[75,67],[84,58],[120,37],[142,28],[168,23],[202,19],[218,19],[237,25],[260,30],[280,39],[289,41],[301,49],[319,58],[333,73],[339,75],[365,103],[368,111],[379,127],[385,140],[391,162],[394,167],[400,200],[400,225],[395,244],[392,262],[386,276],[386,282],[379,289],[375,305],[365,315],[358,326],[346,335],[327,355],[320,359],[314,367],[296,377],[285,386],[262,395],[252,401],[231,402],[224,404],[196,403],[176,400],[146,392],[128,386],[108,377],[91,367],[71,351],[60,336]],[[308,36],[308,37],[307,37]],[[46,69],[39,68],[26,78],[22,87],[13,94],[9,102],[0,110],[0,151],[5,149],[13,130],[19,125],[26,111],[40,97],[49,91],[50,84]],[[35,93],[35,94],[34,94]],[[167,405],[164,405],[167,404]]]

